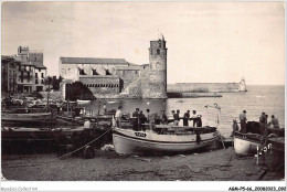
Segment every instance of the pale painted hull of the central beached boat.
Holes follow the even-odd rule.
[[[149,131],[134,131],[115,128],[113,141],[117,153],[128,154],[138,152],[187,152],[204,148],[216,140],[217,134],[201,135],[196,142],[195,135],[158,135]]]

